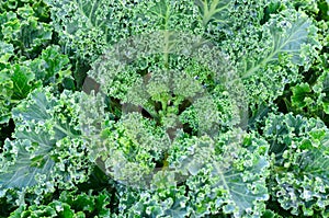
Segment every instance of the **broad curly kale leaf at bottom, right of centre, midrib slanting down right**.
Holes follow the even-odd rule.
[[[178,165],[179,172],[188,174],[193,216],[204,217],[218,209],[236,217],[259,216],[264,209],[269,199],[269,145],[254,135],[239,134],[222,134],[214,148],[206,137],[177,141],[172,148],[175,152],[169,153],[173,156],[169,165]]]

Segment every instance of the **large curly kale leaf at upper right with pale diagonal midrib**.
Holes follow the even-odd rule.
[[[208,34],[229,54],[251,106],[273,102],[287,84],[299,81],[322,47],[322,27],[293,7],[279,5],[266,12],[269,2],[236,1],[228,10],[232,24],[215,25]]]

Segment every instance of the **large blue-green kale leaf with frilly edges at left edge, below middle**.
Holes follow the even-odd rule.
[[[63,148],[64,145],[67,148],[72,147],[70,149],[75,153],[70,153],[71,159],[77,156],[81,159],[81,154],[75,151],[81,145],[73,140],[79,136],[79,131],[75,129],[76,119],[70,114],[76,112],[75,104],[67,112],[63,111],[71,104],[69,101],[75,101],[71,97],[67,92],[57,99],[48,90],[36,90],[12,110],[16,125],[13,134],[15,139],[7,139],[4,152],[0,154],[2,188],[32,187],[50,180],[52,176],[61,175],[63,162],[56,162],[68,154]],[[67,137],[71,141],[66,141]],[[79,161],[76,163],[80,164]],[[83,177],[78,173],[71,176]]]

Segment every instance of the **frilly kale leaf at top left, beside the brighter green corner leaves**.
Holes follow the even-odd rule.
[[[65,49],[67,53],[78,51],[84,61],[95,59],[94,56],[104,51],[106,43],[112,41],[112,37],[122,35],[117,33],[121,24],[116,19],[120,20],[125,15],[123,2],[114,3],[110,0],[46,0],[46,2],[52,5],[54,26],[65,44]]]

